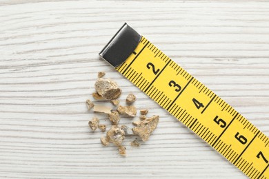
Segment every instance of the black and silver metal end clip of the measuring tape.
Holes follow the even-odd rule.
[[[121,65],[139,44],[141,35],[127,23],[119,29],[99,55],[114,67]]]

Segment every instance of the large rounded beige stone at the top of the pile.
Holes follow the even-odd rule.
[[[99,78],[94,84],[97,93],[107,100],[119,98],[121,89],[116,82],[111,79]]]

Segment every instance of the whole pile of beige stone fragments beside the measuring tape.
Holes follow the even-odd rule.
[[[147,141],[150,134],[152,134],[152,131],[157,127],[159,116],[148,118],[146,116],[146,114],[148,114],[148,109],[141,109],[139,120],[132,122],[132,125],[135,127],[130,129],[130,127],[127,127],[126,125],[120,125],[119,122],[121,116],[128,116],[131,118],[137,116],[137,108],[133,105],[136,101],[136,96],[132,93],[128,94],[126,97],[126,104],[120,105],[118,98],[121,96],[121,89],[115,81],[110,78],[103,78],[103,76],[105,76],[104,72],[98,72],[98,79],[94,84],[96,92],[93,92],[92,96],[96,101],[109,101],[114,105],[115,109],[105,105],[94,104],[90,99],[86,101],[86,105],[88,110],[93,108],[93,112],[106,115],[111,122],[111,127],[106,132],[106,136],[101,137],[101,144],[103,146],[108,146],[112,143],[117,146],[121,156],[126,156],[126,147],[123,145],[123,140],[126,136],[138,136],[143,142]],[[106,131],[106,125],[101,124],[99,118],[96,116],[93,116],[88,124],[92,131],[95,131],[97,128],[103,132]],[[139,140],[136,138],[130,145],[139,147]]]

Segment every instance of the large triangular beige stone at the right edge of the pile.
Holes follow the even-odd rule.
[[[152,116],[151,118],[146,118],[142,120],[137,127],[132,128],[134,134],[140,136],[140,138],[145,142],[157,127],[159,122],[159,116]]]

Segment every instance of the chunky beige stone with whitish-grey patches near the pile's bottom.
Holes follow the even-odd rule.
[[[123,129],[117,127],[117,125],[112,125],[112,127],[106,133],[106,136],[109,139],[110,143],[114,143],[114,145],[121,146],[125,138],[125,132]]]

